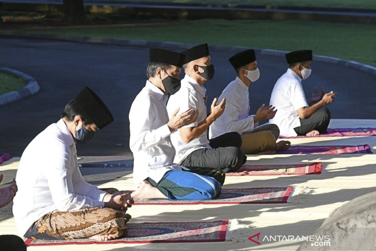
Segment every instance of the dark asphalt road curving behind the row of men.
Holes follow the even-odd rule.
[[[229,52],[211,53],[215,75],[204,85],[208,105],[235,78],[227,61],[230,56]],[[276,80],[287,69],[282,57],[257,58],[261,77],[249,89],[251,111],[269,102]],[[34,96],[0,106],[0,152],[20,156],[39,132],[59,120],[65,104],[87,85],[108,105],[115,121],[97,132],[88,145],[78,146],[78,154],[129,155],[128,114],[145,85],[148,60],[149,51],[144,48],[0,38],[1,66],[32,76],[41,87]],[[376,119],[375,82],[375,76],[363,71],[312,62],[312,75],[303,81],[303,88],[308,98],[315,86],[338,92],[328,106],[333,119]]]

